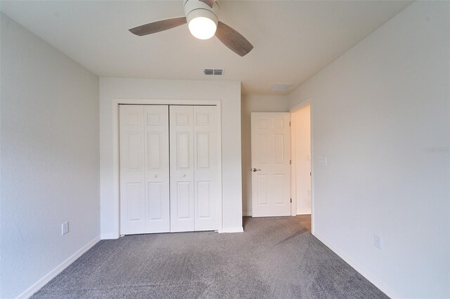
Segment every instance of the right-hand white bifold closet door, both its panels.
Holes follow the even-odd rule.
[[[217,230],[217,108],[169,110],[171,232]]]

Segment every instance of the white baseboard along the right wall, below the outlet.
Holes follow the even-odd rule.
[[[330,248],[334,253],[339,255],[342,260],[345,260],[345,263],[349,264],[356,270],[356,272],[359,272],[364,278],[366,278],[368,281],[371,281],[371,283],[379,288],[383,293],[385,293],[387,296],[389,296],[392,299],[402,298],[399,294],[397,294],[390,286],[387,286],[380,278],[373,275],[371,272],[366,270],[366,268],[362,267],[357,263],[355,260],[350,258],[347,254],[343,253],[338,247],[331,244],[327,239],[323,238],[320,234],[314,233],[314,237],[319,239],[323,244],[325,244],[328,248]]]

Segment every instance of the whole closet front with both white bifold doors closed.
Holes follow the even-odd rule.
[[[217,230],[216,106],[120,105],[120,234]]]

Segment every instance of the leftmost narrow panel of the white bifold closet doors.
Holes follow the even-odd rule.
[[[120,105],[120,234],[146,232],[143,107]]]

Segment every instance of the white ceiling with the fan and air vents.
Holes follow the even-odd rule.
[[[242,81],[243,94],[294,88],[352,48],[411,1],[219,1],[219,20],[255,46],[240,57],[187,25],[149,36],[128,29],[183,16],[183,1],[1,1],[1,11],[103,77]],[[224,76],[205,77],[205,68]]]

